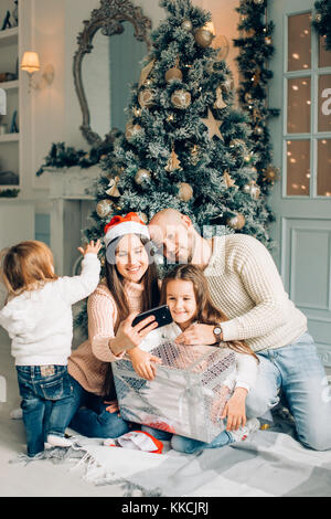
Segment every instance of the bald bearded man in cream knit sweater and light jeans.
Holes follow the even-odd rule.
[[[178,337],[185,345],[245,340],[259,358],[259,374],[246,400],[248,417],[263,416],[279,402],[282,388],[299,441],[331,448],[331,394],[307,318],[284,289],[267,248],[245,234],[204,239],[189,216],[174,209],[157,213],[152,241],[170,263],[203,268],[213,303],[228,320],[195,324]]]

